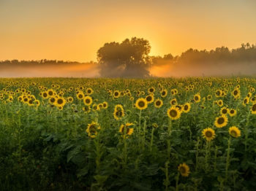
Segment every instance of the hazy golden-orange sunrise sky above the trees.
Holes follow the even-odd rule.
[[[137,36],[151,55],[255,43],[254,0],[0,0],[0,60],[97,61]]]

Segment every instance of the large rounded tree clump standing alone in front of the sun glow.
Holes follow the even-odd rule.
[[[149,77],[151,46],[146,39],[133,37],[104,44],[97,51],[102,77]]]

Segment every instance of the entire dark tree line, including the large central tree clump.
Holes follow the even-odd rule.
[[[96,64],[101,77],[150,77],[150,68],[161,64],[176,66],[227,66],[231,64],[253,64],[256,66],[256,44],[241,44],[241,47],[230,50],[228,47],[217,47],[215,50],[196,50],[190,48],[181,55],[150,56],[151,46],[148,40],[132,37],[123,42],[105,43],[97,51]],[[0,61],[0,64],[78,64],[74,61]]]

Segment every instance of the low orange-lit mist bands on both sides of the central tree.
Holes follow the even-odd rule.
[[[164,61],[152,65],[149,71],[151,77],[254,76],[256,75],[256,63],[199,63],[191,66]],[[99,66],[91,63],[59,64],[58,66],[26,64],[15,67],[0,64],[0,77],[100,77],[100,75]]]

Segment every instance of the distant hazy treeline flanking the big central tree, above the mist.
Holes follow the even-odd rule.
[[[147,44],[148,45],[148,44]],[[111,52],[113,54],[113,52]],[[114,52],[115,53],[115,52]],[[130,56],[130,55],[129,55]],[[126,58],[127,55],[118,54],[118,59],[120,57]],[[171,61],[173,63],[234,63],[234,62],[256,62],[256,44],[241,44],[241,47],[230,50],[228,47],[217,47],[215,50],[196,50],[190,48],[189,50],[182,52],[181,55],[173,56],[172,54],[167,54],[164,56],[151,56],[151,64],[157,64],[158,61]],[[147,60],[148,62],[148,60]],[[37,61],[18,61],[18,60],[6,60],[0,61],[0,63],[65,63],[65,64],[75,64],[80,63],[77,61],[57,61],[57,60],[37,60]],[[86,63],[95,63],[94,61]]]

